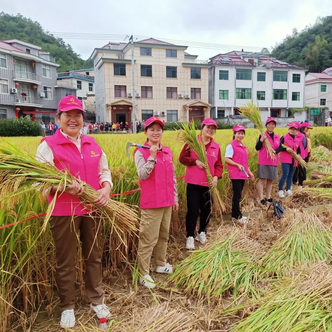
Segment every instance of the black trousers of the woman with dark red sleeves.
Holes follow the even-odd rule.
[[[201,212],[201,217],[198,233],[206,232],[211,216],[211,195],[209,187],[187,183],[187,237],[195,236],[199,212]]]

